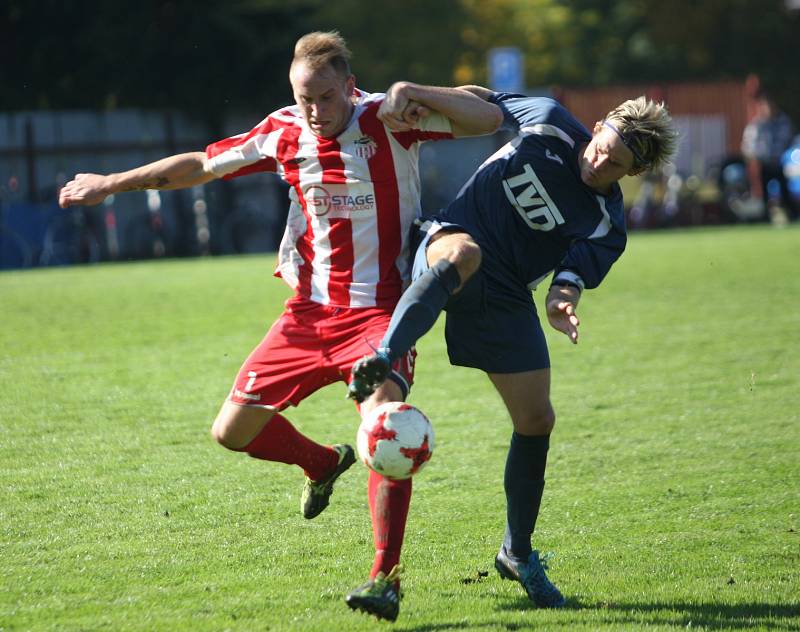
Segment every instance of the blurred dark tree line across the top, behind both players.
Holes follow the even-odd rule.
[[[267,112],[290,98],[292,46],[315,29],[348,39],[368,91],[486,83],[488,50],[518,46],[531,87],[755,73],[800,120],[787,80],[800,11],[785,0],[6,0],[0,110]]]

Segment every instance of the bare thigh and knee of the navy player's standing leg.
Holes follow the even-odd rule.
[[[550,403],[550,369],[488,375],[511,415],[516,432],[550,434],[555,424]]]

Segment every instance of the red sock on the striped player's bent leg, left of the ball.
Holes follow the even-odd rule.
[[[242,452],[256,459],[299,465],[312,481],[324,479],[339,463],[336,450],[312,441],[275,413]]]

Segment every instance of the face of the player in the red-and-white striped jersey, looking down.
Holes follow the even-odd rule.
[[[317,136],[337,136],[347,127],[353,113],[355,78],[342,77],[327,65],[311,70],[299,62],[289,72],[294,100],[303,118]]]

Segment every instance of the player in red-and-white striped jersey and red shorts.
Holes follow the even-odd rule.
[[[295,294],[245,360],[211,432],[231,450],[300,466],[306,518],[328,506],[334,481],[355,456],[349,445],[306,437],[281,412],[325,385],[346,382],[353,363],[384,336],[409,279],[421,143],[491,133],[501,123],[497,106],[462,90],[398,83],[385,95],[363,92],[349,59],[338,33],[310,33],[298,40],[290,68],[294,105],[205,152],[124,173],[78,174],[60,192],[67,207],[97,204],[112,193],[184,188],[261,171],[276,172],[290,185],[276,274]],[[393,120],[416,103],[431,115],[413,125]],[[362,415],[406,398],[414,356],[409,347],[392,363],[389,379],[361,403]],[[375,557],[368,582],[348,595],[352,608],[397,617],[395,567],[410,498],[410,479],[370,471]]]

